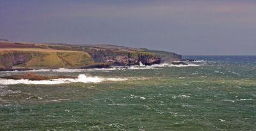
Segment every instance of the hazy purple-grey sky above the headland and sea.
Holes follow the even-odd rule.
[[[0,39],[256,55],[256,1],[0,0]]]

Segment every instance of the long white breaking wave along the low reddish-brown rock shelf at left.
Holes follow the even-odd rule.
[[[76,79],[50,79],[31,81],[28,79],[0,79],[0,85],[33,84],[33,85],[57,85],[62,83],[100,83],[102,81],[126,81],[127,78],[100,78],[98,76],[86,76],[79,74]]]

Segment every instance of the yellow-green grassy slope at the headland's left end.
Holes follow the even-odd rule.
[[[80,67],[93,62],[91,55],[86,52],[34,50],[1,49],[0,69]]]

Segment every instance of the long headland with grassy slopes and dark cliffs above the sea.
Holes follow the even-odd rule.
[[[104,68],[111,65],[161,64],[181,60],[173,52],[115,45],[25,43],[0,39],[0,70]]]

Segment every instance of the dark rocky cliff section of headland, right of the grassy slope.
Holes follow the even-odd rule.
[[[154,53],[145,52],[140,48],[127,48],[123,46],[97,45],[97,46],[49,46],[56,50],[76,50],[87,52],[95,62],[108,62],[110,65],[145,65],[160,64],[161,58]]]

